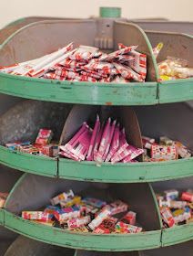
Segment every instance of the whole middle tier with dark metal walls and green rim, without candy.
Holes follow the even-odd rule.
[[[176,118],[177,112],[180,118]],[[118,117],[126,128],[128,142],[137,147],[142,147],[142,133],[155,138],[167,135],[193,148],[193,111],[187,103],[140,108],[86,105],[72,108],[63,103],[22,101],[0,118],[0,163],[40,176],[93,182],[151,182],[193,175],[193,157],[164,162],[142,162],[140,158],[137,163],[102,163],[98,166],[96,162],[30,155],[5,147],[6,143],[35,140],[40,128],[53,130],[55,139],[66,143],[81,124],[96,117],[96,113]],[[15,123],[18,119],[20,122]]]

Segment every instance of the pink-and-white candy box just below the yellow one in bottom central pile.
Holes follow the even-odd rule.
[[[55,218],[59,222],[65,222],[67,219],[76,219],[81,216],[81,210],[79,207],[62,208],[54,212]]]

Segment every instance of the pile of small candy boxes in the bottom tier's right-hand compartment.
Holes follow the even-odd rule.
[[[182,193],[167,190],[157,195],[157,201],[165,228],[193,222],[193,190]]]

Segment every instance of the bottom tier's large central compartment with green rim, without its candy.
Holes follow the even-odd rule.
[[[74,232],[37,224],[20,217],[23,210],[37,210],[49,199],[73,189],[75,194],[107,201],[120,199],[137,212],[143,232],[135,234],[94,234]],[[16,183],[5,204],[5,227],[34,240],[89,251],[139,251],[160,247],[160,219],[155,197],[148,184],[97,184],[67,181],[25,174]]]

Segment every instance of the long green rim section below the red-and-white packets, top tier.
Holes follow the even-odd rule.
[[[92,83],[41,80],[0,74],[0,93],[34,99],[81,104],[150,105],[157,103],[157,83]]]

